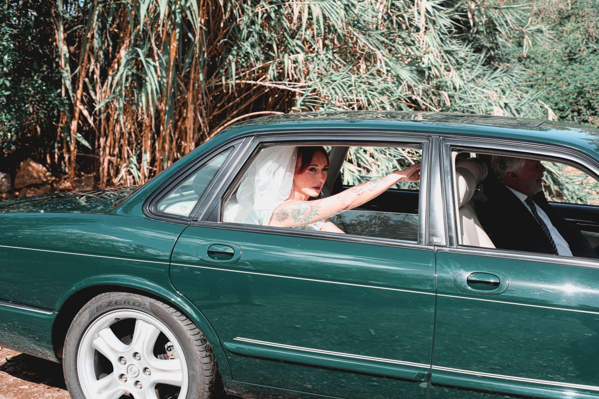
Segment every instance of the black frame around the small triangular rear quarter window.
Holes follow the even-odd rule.
[[[201,209],[204,200],[208,196],[210,196],[211,190],[213,190],[214,185],[216,185],[216,182],[220,178],[222,173],[225,172],[225,170],[229,169],[231,163],[235,160],[236,157],[239,156],[242,148],[244,147],[243,143],[244,139],[226,142],[222,145],[219,145],[219,147],[209,151],[207,154],[203,154],[202,156],[198,157],[198,159],[195,159],[192,162],[190,162],[189,165],[184,167],[184,169],[180,170],[180,172],[176,175],[171,176],[171,178],[169,178],[167,181],[163,182],[158,188],[156,188],[156,190],[152,192],[152,194],[150,194],[150,196],[147,197],[142,207],[143,213],[147,217],[155,220],[179,224],[189,224],[189,221],[193,219],[193,216],[196,214],[196,212],[198,212],[198,210]],[[184,217],[158,211],[156,205],[162,199],[164,199],[164,197],[168,193],[170,193],[171,190],[173,190],[175,187],[177,187],[177,185],[179,185],[181,182],[185,181],[187,178],[193,175],[193,173],[196,173],[199,168],[205,165],[205,163],[210,162],[210,160],[214,159],[214,157],[218,156],[223,151],[226,151],[231,147],[231,153],[228,157],[226,157],[225,161],[220,166],[220,169],[218,170],[218,172],[216,172],[214,178],[206,187],[204,193],[202,193],[202,195],[198,198],[189,215]]]

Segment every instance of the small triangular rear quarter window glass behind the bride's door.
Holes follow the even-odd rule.
[[[188,217],[232,149],[227,148],[191,173],[162,197],[155,209],[162,214]]]

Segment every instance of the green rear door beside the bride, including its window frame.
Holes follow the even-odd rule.
[[[223,377],[241,391],[426,397],[435,303],[434,252],[423,243],[429,139],[261,136],[253,153],[265,144],[357,139],[422,148],[414,242],[222,223],[220,200],[240,162],[174,248],[171,281],[213,325],[232,370]]]

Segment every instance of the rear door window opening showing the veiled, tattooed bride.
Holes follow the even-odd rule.
[[[246,165],[245,172],[237,179],[237,186],[225,197],[222,221],[413,242],[418,240],[419,182],[398,181],[394,171],[418,164],[422,157],[420,148],[335,145],[318,148],[314,153],[307,152],[313,160],[307,165],[314,170],[307,167],[304,172],[301,170],[301,161],[297,160],[297,147],[263,148]],[[346,156],[344,162],[335,169],[326,158],[333,154],[336,156],[340,151],[345,151]],[[303,157],[299,156],[299,159]],[[301,177],[303,175],[307,176],[308,182]],[[334,178],[328,179],[328,185],[324,184],[329,175]],[[416,175],[418,178],[418,173]],[[385,187],[378,185],[383,184],[381,181],[385,181]],[[275,185],[277,189],[273,188]],[[298,188],[298,185],[301,187]],[[293,197],[292,193],[301,196],[302,190],[307,193],[305,198]],[[368,200],[359,204],[354,202],[350,209],[337,209],[343,208],[338,202],[342,200],[340,196],[349,198],[352,192],[356,193],[354,197],[362,196]],[[286,208],[292,203],[297,208]],[[305,211],[301,209],[302,206]],[[285,210],[281,211],[282,208]],[[279,221],[281,223],[277,224]]]

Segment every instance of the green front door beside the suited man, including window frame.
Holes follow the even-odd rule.
[[[566,157],[597,173],[567,151],[443,141],[449,246],[437,250],[430,397],[599,398],[599,262],[459,245],[452,150]]]

